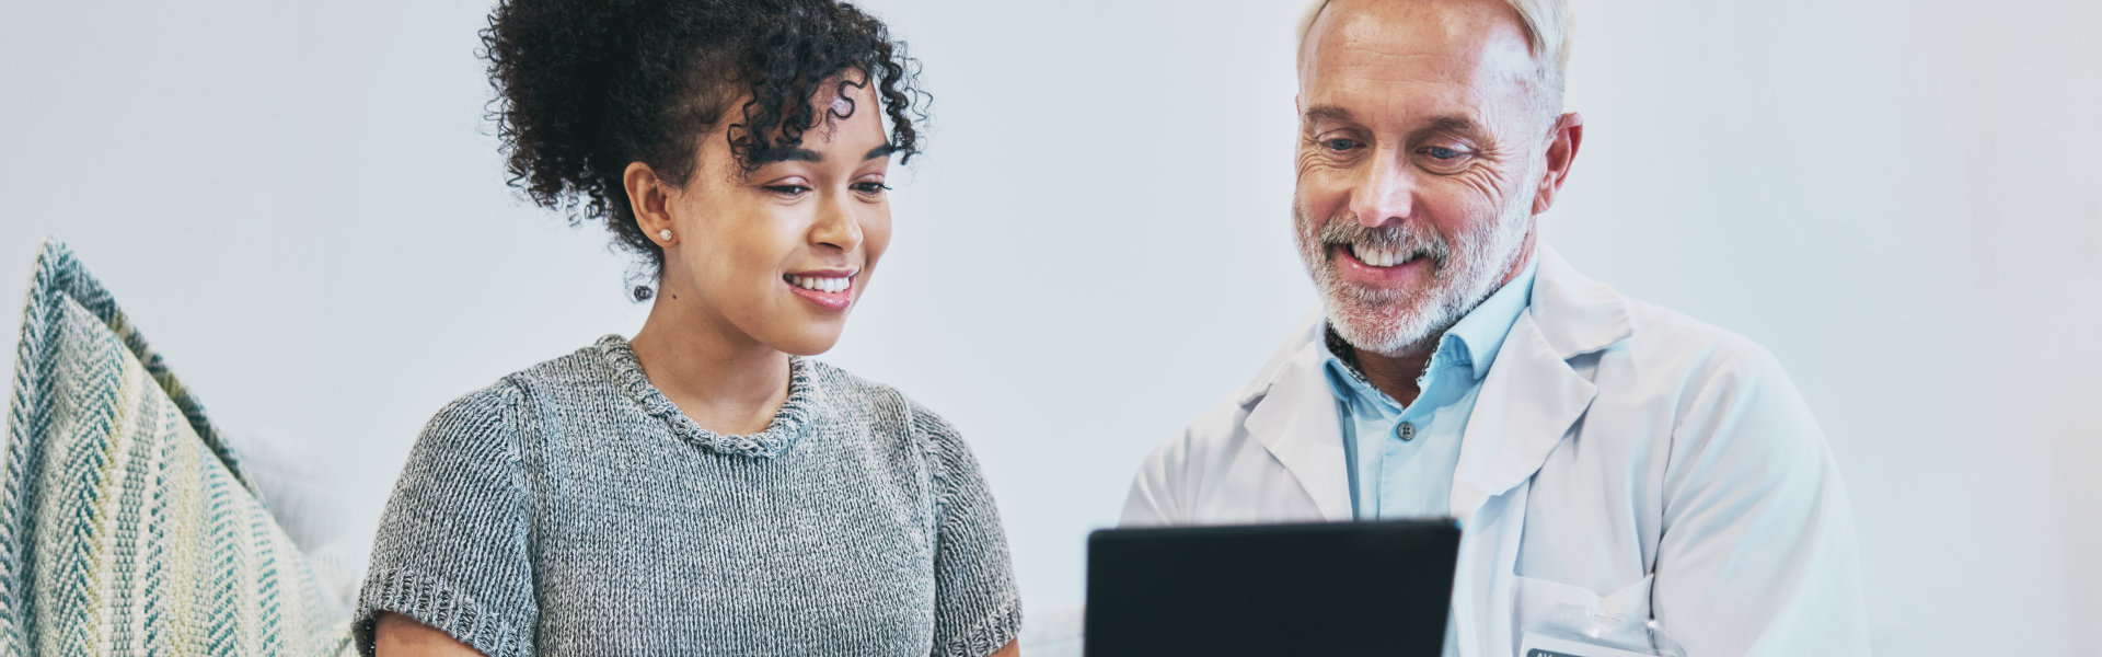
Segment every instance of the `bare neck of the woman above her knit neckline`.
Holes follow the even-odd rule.
[[[700,427],[759,434],[788,402],[788,354],[744,335],[692,295],[660,293],[628,345],[643,375]]]

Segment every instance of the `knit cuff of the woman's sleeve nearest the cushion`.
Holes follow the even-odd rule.
[[[488,657],[530,657],[532,628],[517,628],[496,617],[473,596],[408,569],[378,569],[366,577],[357,596],[357,653],[372,657],[374,623],[383,611],[399,613],[446,632],[454,640]]]

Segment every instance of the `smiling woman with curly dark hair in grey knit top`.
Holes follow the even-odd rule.
[[[513,181],[656,288],[416,440],[359,594],[378,655],[1013,655],[1019,600],[956,432],[830,350],[919,150],[912,61],[832,0],[507,0]],[[883,118],[891,126],[885,131]]]

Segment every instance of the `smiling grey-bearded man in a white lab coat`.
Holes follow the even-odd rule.
[[[1322,312],[1146,459],[1125,524],[1455,516],[1446,655],[1650,619],[1698,657],[1867,655],[1846,493],[1774,358],[1539,244],[1583,145],[1566,34],[1566,0],[1314,8]]]

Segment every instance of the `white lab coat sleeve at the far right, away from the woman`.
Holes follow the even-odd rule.
[[[1869,655],[1839,470],[1766,350],[1694,371],[1663,495],[1652,613],[1688,655]]]

